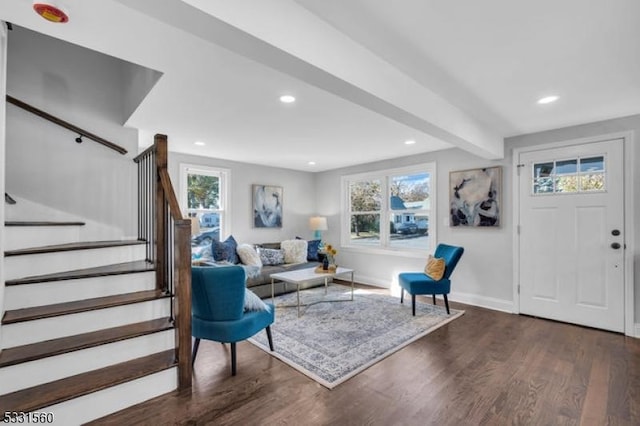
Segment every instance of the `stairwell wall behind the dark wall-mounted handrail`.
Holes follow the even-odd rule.
[[[136,235],[137,131],[122,127],[123,64],[43,37],[9,32],[7,92],[124,147],[123,156],[60,126],[7,106],[6,188],[59,211],[115,226],[113,237]],[[29,218],[25,219],[44,219]]]

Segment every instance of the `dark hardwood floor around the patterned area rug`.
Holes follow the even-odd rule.
[[[333,390],[248,342],[232,377],[229,346],[202,341],[191,393],[95,424],[640,424],[639,339],[451,307],[466,313]]]

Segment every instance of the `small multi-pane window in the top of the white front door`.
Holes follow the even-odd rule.
[[[554,160],[533,165],[534,195],[604,191],[603,156]]]

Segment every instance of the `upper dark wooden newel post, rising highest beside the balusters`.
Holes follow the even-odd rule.
[[[164,187],[162,185],[161,171],[167,169],[167,136],[155,135],[154,146],[156,147],[155,155],[155,260],[156,260],[156,288],[158,290],[167,291],[167,200],[165,198]]]

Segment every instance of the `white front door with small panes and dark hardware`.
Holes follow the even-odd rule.
[[[520,312],[624,332],[623,140],[518,163]]]

